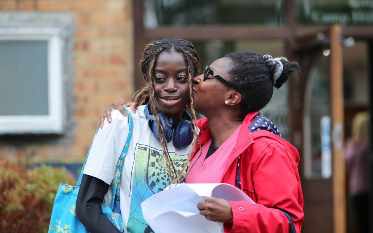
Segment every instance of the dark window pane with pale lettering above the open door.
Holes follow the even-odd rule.
[[[372,0],[298,0],[297,22],[301,25],[372,25]]]

